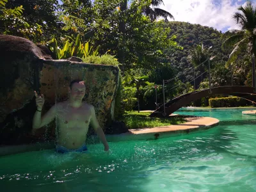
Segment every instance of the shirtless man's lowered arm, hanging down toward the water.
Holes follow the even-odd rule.
[[[95,132],[97,132],[97,135],[99,136],[100,140],[102,141],[103,145],[104,145],[104,150],[108,151],[109,150],[109,146],[108,146],[108,141],[106,140],[106,136],[104,134],[104,132],[102,131],[102,128],[99,125],[99,122],[97,120],[97,117],[95,115],[95,109],[91,108],[91,115],[92,115],[92,127],[95,130]]]

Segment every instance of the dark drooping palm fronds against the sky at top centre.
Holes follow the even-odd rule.
[[[163,0],[151,1],[152,6],[159,6],[161,4],[164,4]],[[147,6],[144,10],[144,13],[145,15],[149,16],[152,21],[156,20],[158,17],[164,17],[165,21],[168,21],[168,17],[170,17],[170,19],[174,19],[171,13],[156,7]]]

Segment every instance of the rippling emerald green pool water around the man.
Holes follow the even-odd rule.
[[[0,157],[1,191],[256,191],[256,116],[244,109],[184,110],[220,125],[159,140]]]

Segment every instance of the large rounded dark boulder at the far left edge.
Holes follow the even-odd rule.
[[[0,35],[0,58],[0,144],[15,143],[31,127],[44,56],[26,38]]]

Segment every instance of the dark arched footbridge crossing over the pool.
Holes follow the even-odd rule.
[[[207,97],[210,95],[234,95],[241,97],[246,100],[250,100],[256,104],[256,92],[255,88],[250,86],[220,86],[205,90],[196,90],[195,92],[186,93],[175,97],[165,104],[166,116],[169,116],[173,112],[177,111],[179,108],[186,106],[190,102],[201,99],[202,97]],[[150,116],[163,116],[164,106],[159,107],[150,114]]]

